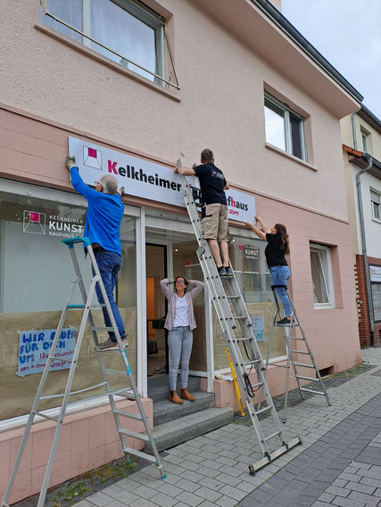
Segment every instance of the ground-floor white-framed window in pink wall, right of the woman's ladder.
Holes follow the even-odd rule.
[[[334,308],[335,294],[330,247],[310,243],[313,304],[315,309]]]

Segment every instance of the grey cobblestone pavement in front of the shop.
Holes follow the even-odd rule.
[[[232,423],[170,449],[165,480],[148,465],[76,507],[381,506],[381,348],[362,358],[376,367],[328,386],[332,406],[318,396],[289,406],[286,438],[302,446],[255,476],[253,427]]]

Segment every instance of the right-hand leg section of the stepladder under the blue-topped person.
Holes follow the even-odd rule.
[[[76,255],[75,255],[75,250],[74,249],[70,249],[70,253],[71,253],[71,258],[73,260],[73,265],[74,265],[75,272],[80,277],[80,281],[81,282],[79,282],[79,287],[80,287],[80,290],[81,290],[82,298],[86,298],[86,289],[85,289],[85,285],[83,283],[83,279],[82,279],[81,274],[80,274],[79,263],[78,263],[78,259],[77,259]],[[154,437],[153,437],[153,434],[152,434],[152,430],[151,430],[151,428],[149,426],[148,417],[145,415],[145,409],[144,409],[144,406],[142,404],[141,397],[140,397],[140,395],[139,395],[139,393],[137,391],[137,386],[136,386],[136,383],[135,383],[134,375],[133,375],[133,372],[131,371],[131,369],[129,367],[126,350],[125,350],[124,346],[121,343],[120,333],[119,333],[119,330],[118,330],[118,326],[117,326],[117,324],[115,322],[115,317],[114,317],[114,315],[112,313],[112,307],[110,305],[109,298],[107,297],[106,291],[104,289],[104,282],[102,281],[102,277],[101,277],[101,274],[99,272],[99,267],[98,267],[98,265],[96,263],[95,255],[94,255],[93,249],[91,247],[91,244],[87,244],[87,253],[88,253],[89,257],[90,257],[90,261],[91,261],[91,264],[92,264],[93,269],[94,269],[94,273],[95,273],[95,277],[96,277],[96,282],[98,283],[99,289],[101,290],[102,296],[104,298],[104,305],[106,307],[107,313],[108,313],[110,321],[112,323],[112,330],[114,331],[115,337],[116,337],[118,345],[120,347],[120,349],[117,350],[116,352],[121,352],[122,360],[124,362],[124,365],[125,365],[125,368],[126,368],[126,372],[127,372],[127,373],[126,372],[117,372],[117,371],[112,371],[112,370],[107,369],[105,367],[104,360],[103,360],[103,357],[102,357],[103,352],[96,351],[97,356],[98,356],[98,360],[99,360],[99,364],[101,366],[101,372],[102,372],[102,375],[104,377],[104,381],[106,382],[106,387],[107,387],[107,391],[106,392],[107,392],[107,396],[108,396],[109,401],[110,401],[110,405],[112,407],[112,415],[113,415],[113,418],[114,418],[114,421],[115,421],[115,426],[117,428],[118,435],[120,437],[120,444],[122,446],[122,450],[125,453],[135,454],[135,455],[137,455],[139,457],[142,457],[142,458],[144,458],[144,459],[146,459],[146,460],[148,460],[150,462],[153,462],[156,465],[156,467],[158,468],[158,470],[160,471],[162,478],[165,478],[165,472],[164,472],[164,470],[162,468],[162,458],[160,457],[160,455],[158,453],[158,450],[157,450],[157,447],[156,447],[156,445],[154,443]],[[96,334],[96,331],[95,331],[95,325],[94,325],[94,321],[93,321],[92,315],[90,315],[89,322],[90,322],[90,329],[91,329],[91,331],[93,333],[93,337],[95,339],[95,344],[98,344],[97,334]],[[99,328],[97,328],[97,329],[99,329]],[[102,327],[102,329],[107,329],[107,328],[105,328],[105,327],[103,328]],[[122,374],[123,376],[124,375],[128,376],[130,387],[132,388],[132,391],[134,393],[133,397],[135,398],[135,401],[137,402],[137,406],[138,406],[138,409],[139,409],[140,417],[137,416],[137,414],[128,413],[128,412],[125,412],[125,411],[120,411],[117,408],[117,406],[115,405],[114,395],[112,394],[112,388],[110,386],[110,382],[109,382],[109,378],[108,378],[108,375],[110,375],[110,374],[111,375],[112,374],[115,374],[115,375]],[[122,425],[120,424],[120,416],[127,417],[127,418],[130,418],[130,419],[139,420],[139,421],[143,421],[143,423],[145,425],[145,435],[142,435],[142,434],[137,433],[135,431],[131,431],[131,430],[122,428]],[[146,453],[144,453],[142,451],[137,451],[136,449],[128,446],[127,442],[125,440],[126,436],[134,437],[134,438],[137,438],[137,439],[140,439],[140,440],[151,442],[152,449],[153,449],[153,456],[154,457],[151,454],[146,454]]]

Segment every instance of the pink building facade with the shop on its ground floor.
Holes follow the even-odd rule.
[[[128,359],[152,423],[147,377],[165,372],[168,362],[157,324],[165,315],[158,282],[177,274],[202,277],[173,168],[179,157],[192,167],[205,147],[236,192],[229,255],[257,317],[262,353],[274,306],[266,243],[236,214],[235,203],[245,200],[267,224],[287,227],[289,286],[319,370],[360,363],[339,124],[359,109],[360,94],[313,48],[304,49],[291,26],[281,28],[281,14],[265,2],[237,0],[233,8],[220,0],[126,0],[122,6],[106,0],[104,12],[91,12],[87,2],[68,4],[69,10],[47,2],[50,16],[36,0],[24,2],[22,11],[16,4],[4,8],[0,493],[40,376],[30,337],[57,325],[73,277],[61,240],[83,231],[86,202],[64,167],[73,150],[88,184],[115,171],[125,182],[117,298]],[[104,25],[97,25],[97,14]],[[130,45],[130,38],[139,44]],[[85,259],[80,262],[88,271]],[[215,393],[216,406],[237,409],[231,383],[215,379],[228,372],[228,362],[205,293],[195,301],[195,316],[191,375]],[[66,327],[78,329],[79,319],[70,316]],[[79,388],[98,381],[90,338],[79,360]],[[156,355],[149,354],[150,340]],[[271,357],[284,356],[279,335]],[[50,392],[61,392],[65,372],[51,375]],[[284,392],[283,370],[270,368],[268,379],[273,395]],[[57,403],[42,408],[55,413]],[[120,457],[109,416],[101,390],[72,400],[52,485]],[[38,491],[51,434],[50,422],[35,426],[12,502]]]

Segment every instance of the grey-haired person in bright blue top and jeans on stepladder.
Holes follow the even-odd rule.
[[[111,175],[101,176],[95,182],[95,190],[87,186],[79,176],[79,168],[75,159],[68,157],[65,162],[70,170],[71,184],[77,192],[83,195],[88,202],[84,236],[88,237],[94,251],[96,264],[104,282],[104,289],[112,307],[112,313],[118,326],[120,339],[125,347],[128,347],[124,324],[113,298],[112,291],[115,288],[118,273],[121,266],[120,250],[120,223],[123,217],[124,205],[118,193],[118,184]],[[94,270],[93,270],[94,276]],[[96,297],[100,304],[104,303],[98,283],[95,284]],[[103,308],[104,324],[112,327],[106,308]],[[109,331],[109,339],[99,344],[95,350],[104,351],[119,348],[115,333]]]

